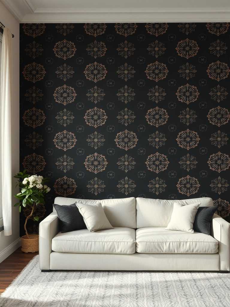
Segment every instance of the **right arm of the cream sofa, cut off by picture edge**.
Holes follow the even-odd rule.
[[[219,242],[220,270],[230,270],[230,224],[222,217],[213,216],[213,237]]]

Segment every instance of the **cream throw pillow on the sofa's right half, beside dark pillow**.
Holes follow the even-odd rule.
[[[180,230],[193,233],[195,215],[201,203],[190,205],[173,204],[173,212],[166,230]]]

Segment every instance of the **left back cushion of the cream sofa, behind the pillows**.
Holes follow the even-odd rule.
[[[55,204],[71,205],[74,202],[79,203],[97,203],[98,200],[77,199],[67,197],[56,197]],[[100,200],[105,215],[113,227],[136,228],[136,199],[135,197],[102,199]],[[53,208],[53,211],[56,211]]]

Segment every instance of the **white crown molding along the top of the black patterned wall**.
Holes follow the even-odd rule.
[[[46,9],[34,7],[31,0],[0,1],[21,23],[230,22],[230,7]]]

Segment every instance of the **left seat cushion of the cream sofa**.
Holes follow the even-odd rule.
[[[52,251],[63,253],[133,254],[135,229],[115,227],[89,232],[88,229],[58,233],[52,239]]]

